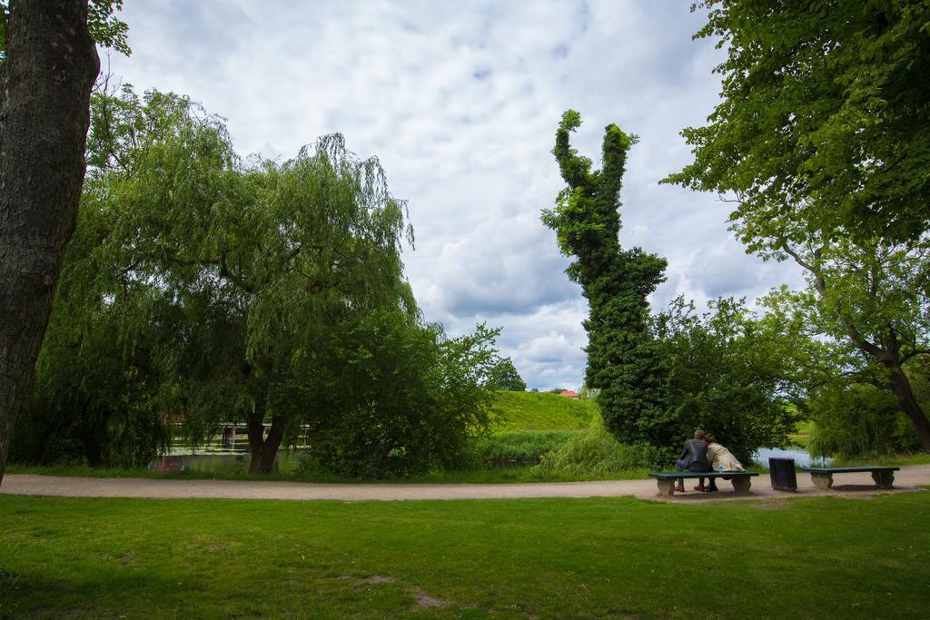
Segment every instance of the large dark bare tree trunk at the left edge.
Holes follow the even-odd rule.
[[[0,70],[0,482],[84,183],[86,0],[12,0]]]

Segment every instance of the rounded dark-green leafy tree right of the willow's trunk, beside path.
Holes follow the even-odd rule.
[[[487,429],[499,330],[447,339],[397,311],[353,317],[282,386],[312,424],[312,461],[352,478],[404,477],[461,465]]]

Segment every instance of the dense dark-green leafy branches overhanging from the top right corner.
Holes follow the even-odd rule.
[[[722,102],[667,180],[734,192],[734,219],[915,240],[930,218],[930,5],[709,0]],[[756,249],[755,242],[750,243]]]

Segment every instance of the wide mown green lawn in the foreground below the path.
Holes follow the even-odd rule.
[[[0,495],[0,617],[914,618],[930,608],[927,514],[925,492],[700,506]]]

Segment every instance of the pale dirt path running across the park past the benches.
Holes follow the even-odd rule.
[[[720,481],[721,493],[689,491],[672,502],[737,499],[729,482]],[[892,493],[930,485],[930,465],[904,466],[896,472]],[[140,478],[71,478],[7,474],[0,494],[60,495],[69,497],[160,497],[225,499],[290,499],[339,501],[392,501],[413,499],[504,499],[522,497],[618,497],[632,495],[657,499],[656,481],[534,482],[525,484],[322,484],[277,481],[149,480]],[[751,497],[815,495],[871,495],[879,493],[868,473],[834,476],[834,490],[817,491],[804,473],[798,474],[797,493],[774,491],[767,474],[752,479]]]

